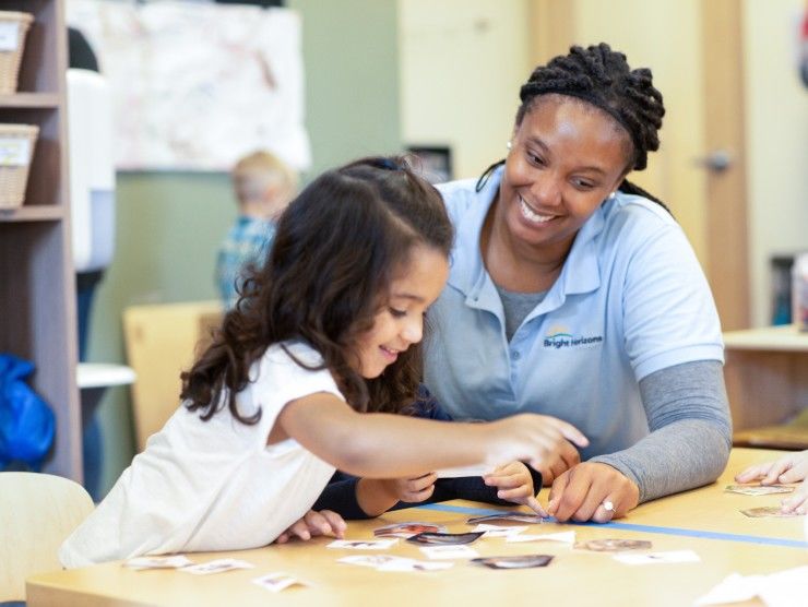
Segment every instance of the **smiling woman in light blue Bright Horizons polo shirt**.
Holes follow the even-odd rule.
[[[520,97],[507,158],[439,187],[458,235],[425,383],[455,419],[580,428],[590,447],[540,469],[548,510],[605,522],[724,469],[721,326],[681,228],[626,179],[660,147],[651,71],[572,47]]]

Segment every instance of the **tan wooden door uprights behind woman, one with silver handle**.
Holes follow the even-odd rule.
[[[566,53],[574,39],[574,0],[530,0],[534,64]],[[722,329],[750,325],[747,224],[744,7],[741,0],[701,2],[704,151],[726,150],[732,165],[706,179],[704,272]]]

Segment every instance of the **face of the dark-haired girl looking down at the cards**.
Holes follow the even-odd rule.
[[[385,307],[373,326],[359,336],[359,373],[379,377],[411,345],[424,336],[424,314],[438,299],[449,277],[449,262],[437,249],[419,245],[409,262],[390,285]]]

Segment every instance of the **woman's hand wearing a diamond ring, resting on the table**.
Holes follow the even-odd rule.
[[[607,523],[623,516],[639,501],[640,488],[619,471],[607,464],[584,462],[552,481],[547,511],[562,523]]]

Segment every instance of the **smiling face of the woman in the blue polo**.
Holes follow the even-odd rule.
[[[629,134],[579,99],[537,100],[513,132],[498,218],[511,239],[566,254],[581,226],[625,177]]]

